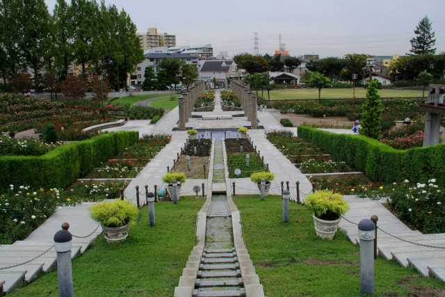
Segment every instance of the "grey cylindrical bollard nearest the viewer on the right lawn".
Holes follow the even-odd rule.
[[[364,218],[359,223],[360,293],[362,294],[374,292],[374,237],[375,224],[369,218]]]

